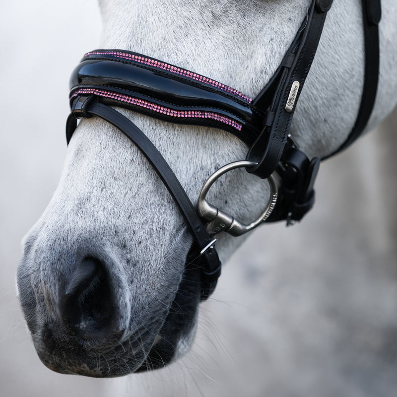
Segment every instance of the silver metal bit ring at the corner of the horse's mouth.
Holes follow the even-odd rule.
[[[209,224],[207,225],[207,231],[211,236],[222,231],[225,231],[232,236],[241,236],[242,234],[247,233],[248,231],[257,227],[270,216],[277,201],[277,185],[272,175],[267,178],[267,182],[270,186],[270,198],[267,202],[266,208],[261,216],[249,225],[245,225],[239,222],[238,220],[234,219],[233,216],[228,215],[227,213],[221,211],[219,208],[209,204],[208,201],[205,199],[212,184],[223,174],[236,168],[254,167],[256,165],[257,163],[255,163],[254,161],[235,161],[233,163],[223,166],[218,171],[214,172],[204,182],[204,185],[202,186],[199,194],[197,210],[199,212],[199,216],[209,222]]]

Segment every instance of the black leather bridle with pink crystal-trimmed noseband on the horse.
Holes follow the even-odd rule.
[[[350,145],[365,128],[378,83],[380,0],[362,0],[365,77],[353,130],[336,151]],[[238,136],[249,147],[249,173],[279,179],[261,221],[299,221],[314,204],[314,181],[320,159],[309,159],[294,144],[289,128],[309,72],[332,0],[313,0],[307,18],[280,66],[255,98],[197,73],[123,50],[95,50],[84,56],[70,79],[66,123],[69,142],[77,119],[100,117],[125,133],[152,164],[175,199],[194,237],[187,262],[200,267],[201,300],[213,292],[221,271],[213,235],[231,230],[220,211],[205,216],[193,206],[173,171],[153,143],[128,118],[110,106],[124,107],[172,123],[216,127]],[[335,153],[336,153],[335,152]],[[333,153],[333,154],[335,154]],[[272,186],[272,185],[271,185]],[[204,223],[211,221],[207,231]],[[262,222],[257,222],[262,223]],[[255,225],[256,226],[256,225]],[[210,237],[211,235],[211,237]]]

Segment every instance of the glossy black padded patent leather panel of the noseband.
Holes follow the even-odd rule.
[[[131,65],[115,62],[115,60],[83,60],[73,70],[69,86],[71,95],[78,88],[109,89],[177,111],[214,112],[241,123],[241,131],[212,119],[191,119],[189,123],[209,125],[232,132],[247,145],[251,145],[260,134],[264,117],[262,112],[248,102],[235,98],[216,87],[208,87],[198,81],[174,76],[147,66]],[[101,102],[115,104],[110,98],[104,98]],[[117,105],[123,106],[120,102],[117,102]],[[135,110],[150,113],[142,108]],[[156,116],[165,120],[169,119],[166,115]],[[183,120],[173,119],[172,122],[182,123]]]

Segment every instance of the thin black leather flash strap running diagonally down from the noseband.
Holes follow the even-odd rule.
[[[195,207],[164,157],[149,138],[127,117],[107,105],[96,102],[94,96],[77,97],[73,105],[72,113],[69,115],[66,122],[67,142],[69,142],[71,135],[76,128],[76,118],[97,116],[118,128],[130,140],[132,140],[153,166],[154,170],[177,203],[197,242],[197,255],[193,255],[193,261],[201,269],[200,299],[207,299],[215,289],[216,282],[221,271],[221,263],[215,248],[210,244],[212,239],[208,236]],[[190,254],[189,257],[192,257],[192,255]]]

